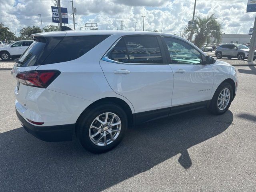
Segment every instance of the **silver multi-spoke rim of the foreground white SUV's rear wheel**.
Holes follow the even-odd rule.
[[[106,146],[118,138],[121,125],[118,115],[111,112],[100,114],[90,125],[90,140],[97,146]]]

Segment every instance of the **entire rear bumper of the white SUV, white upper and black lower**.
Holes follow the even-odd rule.
[[[19,95],[18,92],[15,96],[16,114],[22,126],[36,138],[48,142],[72,140],[76,120],[92,103],[82,98],[34,87],[28,87],[26,96]],[[22,99],[23,97],[26,99]]]

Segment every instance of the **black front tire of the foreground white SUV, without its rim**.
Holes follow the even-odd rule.
[[[218,97],[219,97],[220,93],[222,92],[222,90],[224,90],[225,88],[228,88],[229,91],[230,91],[230,101],[228,103],[228,106],[226,106],[225,109],[220,110],[218,108]],[[210,103],[210,106],[208,107],[208,110],[212,114],[216,114],[216,115],[224,114],[228,110],[228,108],[230,107],[230,104],[233,100],[233,95],[234,95],[234,90],[233,90],[232,86],[229,83],[224,82],[224,83],[220,84],[220,86],[215,91],[214,96],[212,97],[212,101]]]

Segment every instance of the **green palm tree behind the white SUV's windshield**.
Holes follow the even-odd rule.
[[[208,15],[206,18],[196,17],[195,26],[192,28],[184,27],[182,37],[188,40],[192,39],[195,35],[194,44],[199,48],[207,42],[210,43],[210,37],[214,37],[214,43],[219,44],[222,39],[222,25],[218,22],[217,18]]]

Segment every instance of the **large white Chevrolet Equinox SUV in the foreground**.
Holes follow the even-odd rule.
[[[207,107],[226,112],[236,70],[175,35],[46,32],[15,64],[16,113],[44,141],[72,140],[90,152],[114,148],[128,126]]]

